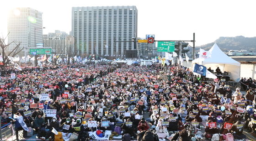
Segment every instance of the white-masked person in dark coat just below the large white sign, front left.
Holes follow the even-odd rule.
[[[57,120],[57,117],[54,116],[50,123],[47,123],[47,126],[46,126],[46,136],[45,136],[45,139],[48,139],[49,138],[49,141],[53,140],[54,139],[54,133],[52,132],[53,128],[56,130],[56,131],[59,131],[59,121]],[[54,140],[53,140],[54,141]]]

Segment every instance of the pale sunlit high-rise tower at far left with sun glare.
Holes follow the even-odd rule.
[[[36,43],[43,43],[42,14],[27,7],[11,10],[8,16],[8,43],[21,42],[20,47],[35,47]],[[16,45],[12,43],[7,51],[10,52],[14,47]]]

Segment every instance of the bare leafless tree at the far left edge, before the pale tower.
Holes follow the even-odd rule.
[[[9,33],[7,34],[6,37],[8,37]],[[3,57],[3,62],[2,63],[4,63],[4,65],[1,65],[1,68],[5,68],[5,66],[11,62],[11,60],[8,58],[8,56],[9,57],[15,57],[18,53],[20,53],[24,49],[24,47],[22,47],[19,50],[21,42],[12,41],[12,42],[6,44],[5,43],[6,37],[0,37],[0,47],[1,47],[0,54]],[[11,44],[15,44],[14,49],[12,49],[11,52],[6,52],[6,48],[9,47]]]

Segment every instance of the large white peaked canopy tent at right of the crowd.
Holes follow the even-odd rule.
[[[192,69],[195,63],[204,65],[206,68],[211,67],[215,71],[217,67],[223,73],[224,71],[229,72],[230,78],[234,81],[240,80],[240,63],[227,56],[224,52],[219,49],[219,46],[215,43],[209,50],[211,52],[210,58],[197,58],[192,61]]]

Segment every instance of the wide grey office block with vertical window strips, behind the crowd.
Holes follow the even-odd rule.
[[[72,36],[78,55],[124,56],[136,50],[131,41],[137,37],[136,6],[72,7]]]

